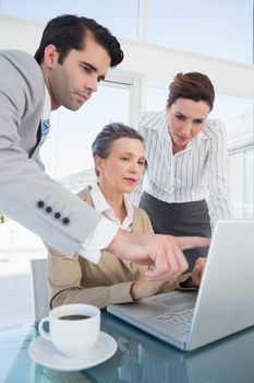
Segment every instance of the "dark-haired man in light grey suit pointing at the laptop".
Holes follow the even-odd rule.
[[[98,262],[107,248],[153,265],[149,279],[174,280],[188,267],[182,249],[208,240],[125,232],[48,177],[39,159],[50,112],[61,105],[77,111],[122,59],[107,28],[74,15],[47,24],[35,59],[0,53],[0,210],[66,256]]]

